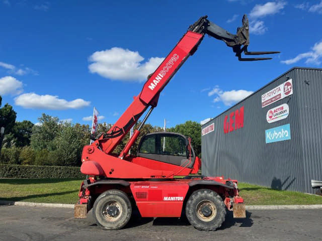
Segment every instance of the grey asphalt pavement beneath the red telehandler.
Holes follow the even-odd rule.
[[[121,230],[100,229],[89,212],[75,219],[73,209],[0,206],[0,240],[322,240],[322,209],[251,210],[247,218],[227,213],[216,231],[198,231],[178,218],[135,216]]]

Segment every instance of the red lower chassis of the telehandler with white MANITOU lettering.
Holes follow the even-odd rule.
[[[91,199],[111,189],[121,190],[135,201],[142,217],[180,217],[184,202],[196,190],[209,189],[224,200],[228,210],[243,204],[238,194],[237,181],[223,177],[196,177],[165,181],[125,181],[122,179],[96,180],[82,183],[79,204],[91,206]],[[245,216],[243,216],[245,217]]]

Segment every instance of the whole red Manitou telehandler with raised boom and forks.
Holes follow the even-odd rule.
[[[82,182],[75,217],[86,217],[93,207],[99,226],[119,229],[129,221],[133,208],[137,208],[142,217],[186,215],[199,230],[220,227],[226,210],[233,211],[234,217],[246,217],[244,199],[238,194],[236,180],[189,175],[196,174],[201,167],[201,160],[195,155],[189,138],[177,133],[151,133],[141,138],[135,157],[128,155],[140,129],[157,105],[160,92],[195,53],[206,34],[224,41],[240,61],[271,59],[242,58],[243,52],[245,55],[278,53],[248,52],[249,22],[246,15],[236,35],[211,23],[207,16],[191,25],[165,60],[148,76],[142,91],[114,126],[107,133],[92,137],[95,141],[84,147],[81,172],[88,178]],[[112,153],[146,110],[141,125],[123,151],[118,155]]]

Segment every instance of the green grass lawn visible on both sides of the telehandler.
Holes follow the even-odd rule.
[[[10,201],[76,203],[82,180],[77,179],[0,179],[0,199]],[[322,204],[322,196],[278,191],[238,183],[246,205]]]

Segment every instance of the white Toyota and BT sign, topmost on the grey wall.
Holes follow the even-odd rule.
[[[287,80],[283,84],[280,84],[274,89],[266,92],[262,95],[262,107],[270,105],[277,100],[283,99],[288,95],[293,94],[292,79]]]

